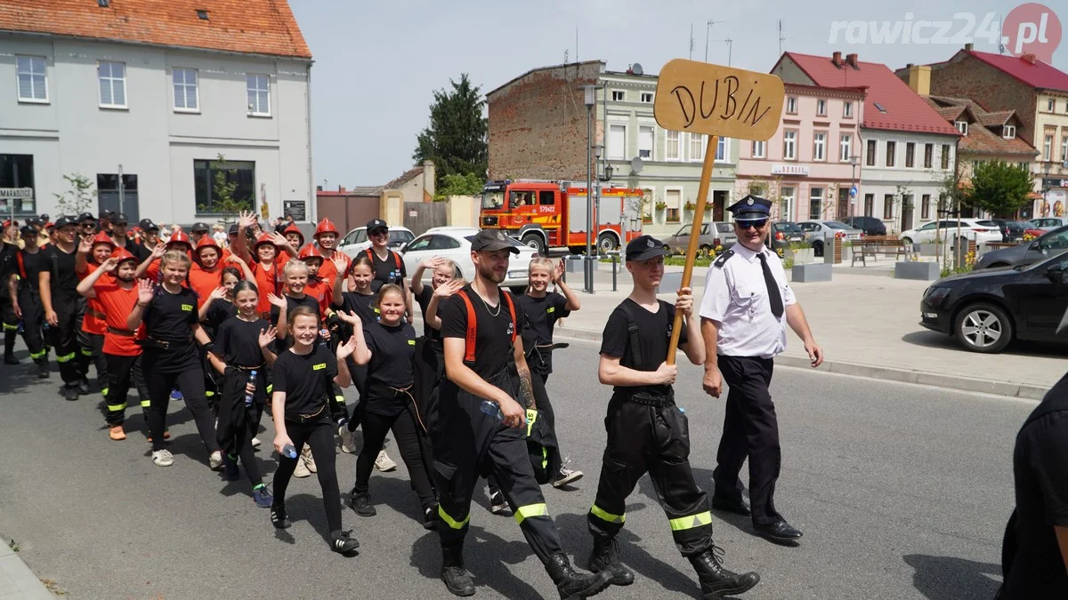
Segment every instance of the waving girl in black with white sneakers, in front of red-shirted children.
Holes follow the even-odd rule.
[[[141,368],[145,374],[152,406],[148,432],[152,436],[152,461],[170,467],[174,457],[164,447],[167,406],[171,390],[182,390],[186,406],[193,413],[197,430],[207,446],[211,469],[222,465],[222,452],[216,440],[211,409],[204,393],[204,368],[193,340],[210,349],[211,340],[200,326],[197,294],[183,287],[191,260],[184,252],[169,251],[160,258],[162,281],[157,286],[148,280],[138,282],[138,300],[126,318],[126,328],[137,331],[142,320],[146,338]]]

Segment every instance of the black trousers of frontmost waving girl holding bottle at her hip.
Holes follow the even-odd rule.
[[[297,448],[297,458],[279,456],[278,470],[274,471],[274,504],[285,507],[285,490],[289,487],[293,471],[300,460],[300,451],[308,444],[315,459],[316,475],[323,489],[323,507],[327,512],[327,523],[331,532],[341,530],[341,491],[337,489],[337,457],[334,455],[334,432],[337,430],[330,420],[329,409],[324,408],[323,414],[315,421],[297,423],[285,422],[285,430]]]

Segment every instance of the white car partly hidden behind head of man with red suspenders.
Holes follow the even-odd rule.
[[[474,263],[471,262],[471,238],[478,233],[476,227],[431,227],[423,235],[411,240],[402,249],[400,256],[404,257],[404,267],[409,275],[415,272],[415,267],[427,258],[441,256],[451,258],[460,266],[464,279],[474,280]],[[522,294],[527,289],[528,269],[531,258],[538,255],[537,251],[529,246],[524,246],[518,240],[513,240],[519,254],[512,256],[508,262],[508,273],[501,285],[507,286],[515,294]],[[423,271],[423,283],[430,284],[434,273],[427,269]]]

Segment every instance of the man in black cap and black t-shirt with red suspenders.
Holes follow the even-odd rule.
[[[535,407],[519,337],[523,313],[498,287],[513,253],[519,249],[502,232],[478,232],[471,242],[474,282],[441,307],[447,378],[435,391],[428,410],[435,455],[431,471],[440,502],[441,579],[456,596],[475,593],[464,568],[464,538],[471,520],[471,493],[483,474],[480,471],[488,469],[561,598],[585,598],[608,587],[609,574],[581,573],[571,567],[527,454],[527,411],[521,402]],[[509,358],[519,375],[518,395]]]

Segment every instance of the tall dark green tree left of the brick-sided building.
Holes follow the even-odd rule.
[[[430,105],[430,126],[417,138],[412,159],[433,160],[435,186],[444,187],[446,175],[486,176],[489,167],[489,125],[483,115],[486,100],[468,75],[450,80],[452,91],[438,90]],[[480,188],[481,189],[481,188]]]

